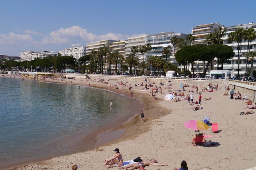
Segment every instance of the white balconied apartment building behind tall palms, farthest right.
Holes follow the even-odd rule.
[[[256,30],[256,23],[253,22],[249,22],[248,24],[237,24],[235,26],[228,26],[225,27],[227,29],[226,35],[224,37],[222,37],[223,44],[228,45],[230,47],[232,47],[232,42],[228,41],[228,34],[231,32],[234,32],[237,28],[242,27],[244,29],[248,29],[248,28],[254,28],[254,30]],[[237,74],[238,71],[238,43],[234,42],[234,47],[233,50],[235,52],[234,55],[234,70],[232,70],[232,59],[230,59],[228,62],[223,64],[223,70],[229,70],[229,71],[233,71],[233,74]],[[246,69],[246,53],[249,50],[249,46],[248,46],[248,40],[242,40],[242,48],[241,48],[241,56],[240,56],[240,64],[239,64],[239,74],[245,74],[245,69]],[[240,51],[240,50],[239,50]],[[256,39],[251,41],[251,46],[250,46],[250,51],[256,51]],[[249,62],[249,68],[251,67],[251,61]],[[254,66],[253,69],[256,69],[256,60],[254,60]],[[215,68],[217,68],[217,64],[214,65]],[[220,65],[219,65],[220,67]]]

